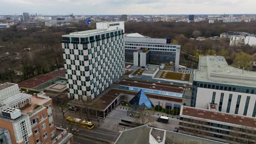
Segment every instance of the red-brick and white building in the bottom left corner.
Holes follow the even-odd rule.
[[[60,138],[73,143],[66,130],[56,135],[53,103],[44,94],[20,93],[17,84],[3,83],[0,98],[0,135],[7,143],[64,143]]]

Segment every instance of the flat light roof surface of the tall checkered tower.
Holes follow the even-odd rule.
[[[109,30],[109,29],[91,29],[88,31],[81,31],[81,32],[74,32],[66,35],[62,35],[62,37],[77,37],[77,38],[85,38],[85,37],[90,37],[95,34],[103,34],[106,32],[115,32],[115,31],[120,31],[123,29],[114,29],[114,30]]]

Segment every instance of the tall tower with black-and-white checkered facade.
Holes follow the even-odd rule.
[[[124,74],[123,29],[94,29],[62,38],[68,97],[94,99]]]

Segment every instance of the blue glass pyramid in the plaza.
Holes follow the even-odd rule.
[[[154,107],[154,105],[152,104],[152,102],[149,100],[149,98],[147,97],[147,95],[143,92],[143,90],[141,89],[141,91],[139,91],[135,97],[133,97],[130,102],[129,102],[132,107],[139,107],[139,106],[146,106],[147,109]]]

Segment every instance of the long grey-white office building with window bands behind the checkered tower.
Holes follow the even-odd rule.
[[[140,34],[125,35],[125,61],[133,61],[133,52],[137,50],[148,50],[150,53],[149,62],[165,63],[170,62],[179,65],[180,45],[167,44],[168,39],[149,38]]]

